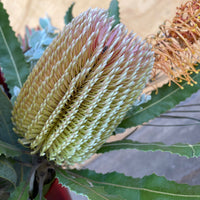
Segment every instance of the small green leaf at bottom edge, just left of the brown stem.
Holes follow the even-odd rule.
[[[14,192],[11,193],[9,200],[27,200],[29,199],[28,195],[29,185],[27,182],[23,181],[20,185],[15,189]]]

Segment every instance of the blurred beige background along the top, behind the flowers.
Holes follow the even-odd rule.
[[[17,33],[24,33],[25,25],[37,27],[40,17],[48,14],[53,25],[62,29],[66,10],[75,2],[74,16],[89,8],[107,9],[110,0],[1,0],[10,15],[11,26]],[[121,22],[128,29],[145,37],[157,32],[158,26],[175,13],[184,0],[119,0]]]

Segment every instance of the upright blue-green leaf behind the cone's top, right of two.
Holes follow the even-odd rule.
[[[108,16],[109,17],[114,16],[115,22],[113,24],[113,27],[115,27],[117,24],[120,23],[119,2],[118,2],[118,0],[112,0],[110,2],[110,6],[108,8]]]

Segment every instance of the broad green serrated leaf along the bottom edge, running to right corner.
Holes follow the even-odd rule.
[[[64,186],[78,194],[87,195],[91,200],[200,199],[200,185],[178,184],[155,174],[140,179],[117,172],[100,174],[87,169],[58,169],[57,177]],[[103,188],[101,192],[98,191],[99,187]]]

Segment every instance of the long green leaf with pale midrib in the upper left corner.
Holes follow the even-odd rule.
[[[8,14],[0,2],[0,66],[6,79],[6,83],[13,95],[13,88],[22,87],[29,69],[25,62],[20,44],[15,33],[9,25]]]

